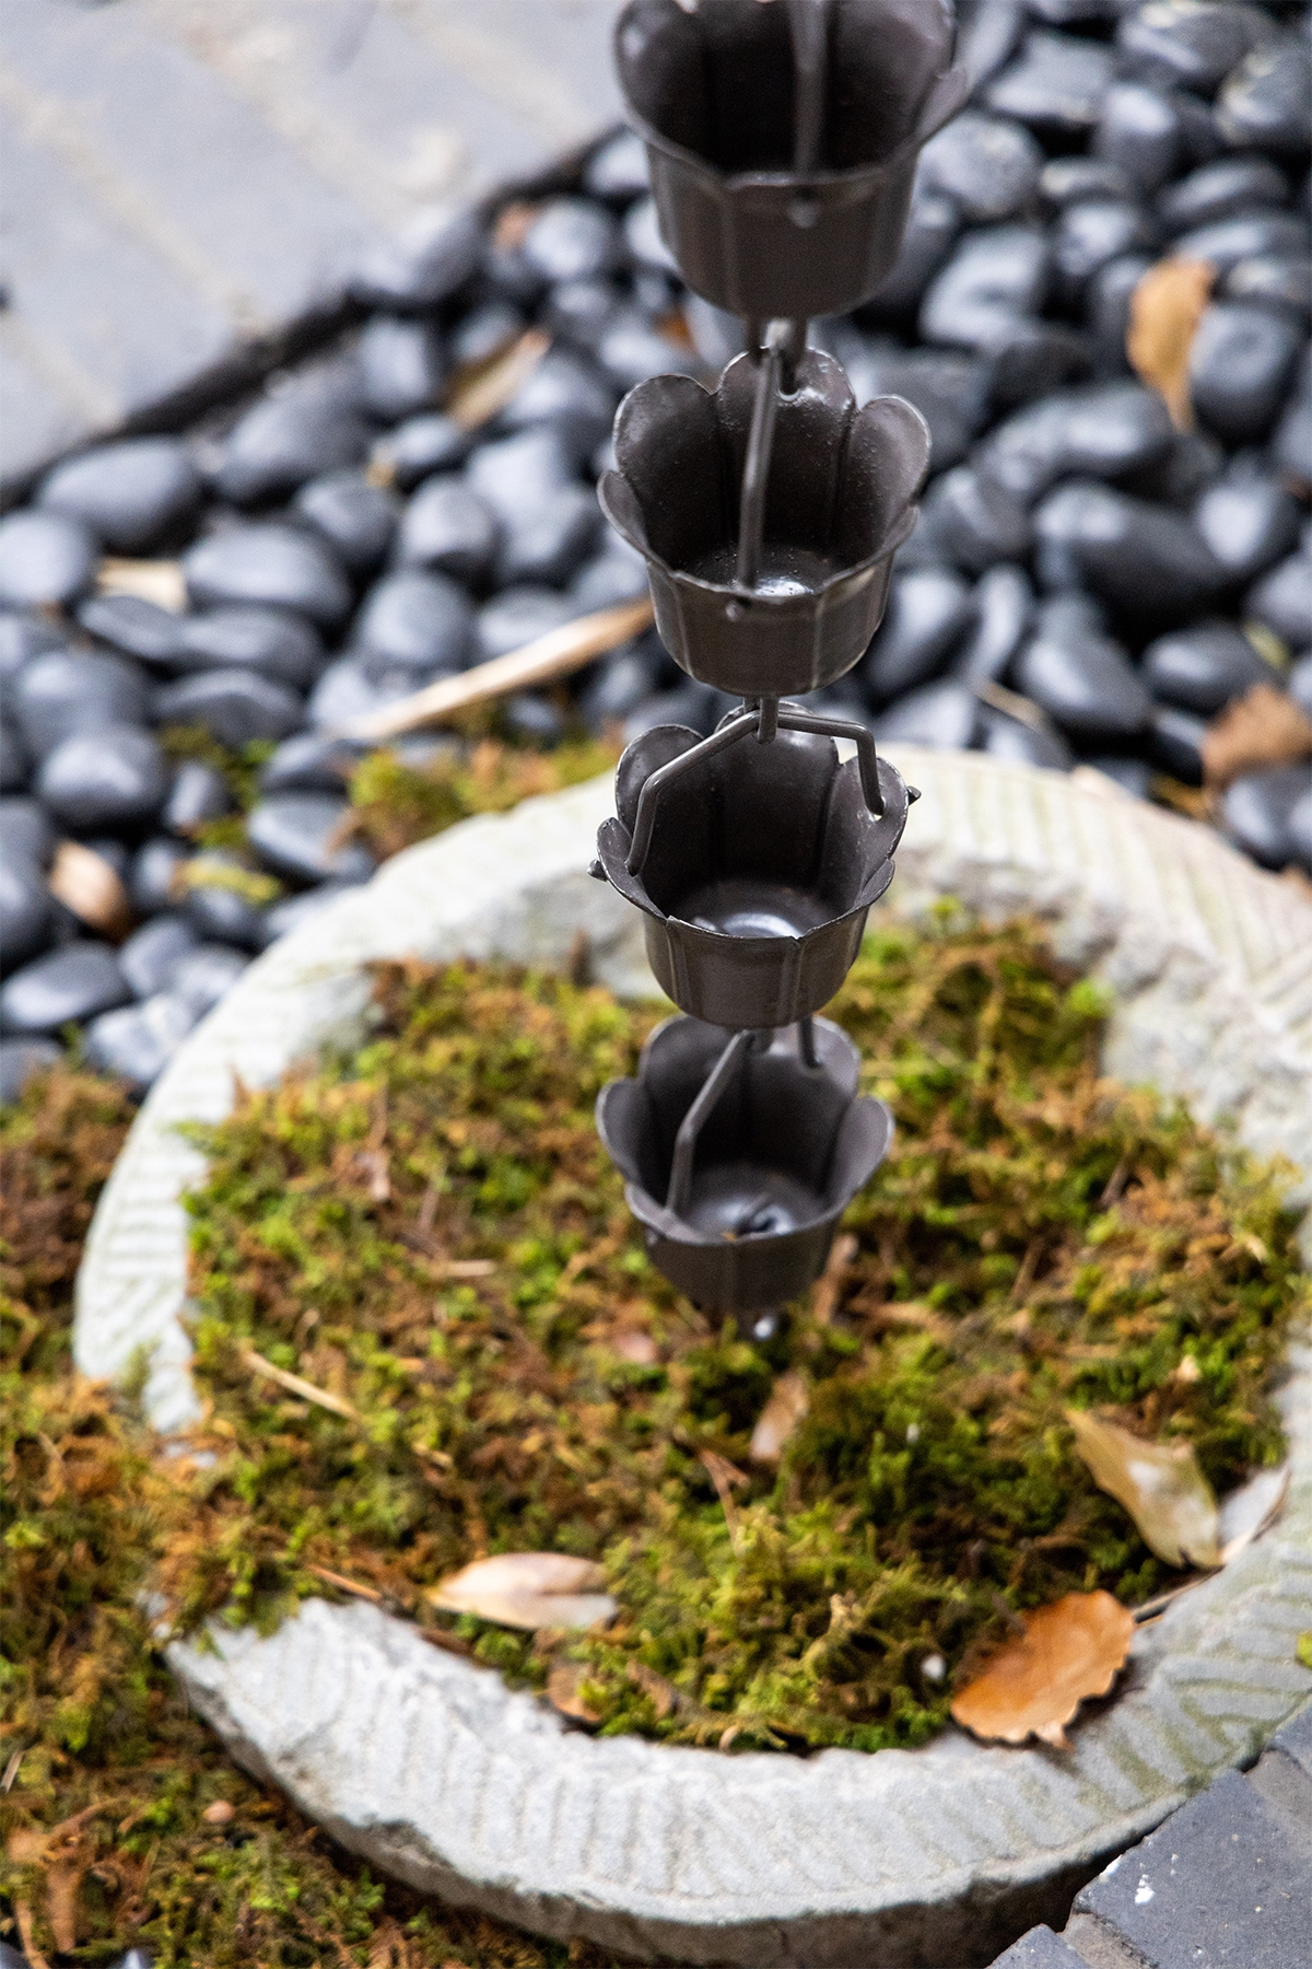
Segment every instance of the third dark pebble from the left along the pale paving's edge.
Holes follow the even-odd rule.
[[[224,439],[214,486],[222,498],[250,506],[356,465],[368,447],[360,384],[332,364],[285,380],[246,412]]]

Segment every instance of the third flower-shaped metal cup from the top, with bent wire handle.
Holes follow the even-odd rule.
[[[661,990],[712,1026],[791,1026],[818,1012],[862,947],[865,912],[893,880],[907,786],[877,762],[871,813],[858,760],[832,738],[779,730],[700,756],[661,792],[641,866],[629,868],[641,790],[700,746],[657,725],[616,772],[616,819],[602,821],[602,872],[643,912]]]

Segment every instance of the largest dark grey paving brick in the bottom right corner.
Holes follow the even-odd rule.
[[[1310,1910],[1306,1853],[1233,1770],[1074,1902],[1076,1918],[1127,1941],[1149,1969],[1300,1969]],[[1080,1930],[1072,1922],[1072,1937]],[[1082,1932],[1080,1949],[1090,1953]]]

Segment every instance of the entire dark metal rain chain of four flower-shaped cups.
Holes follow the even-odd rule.
[[[675,660],[744,703],[708,738],[661,725],[620,760],[592,872],[643,912],[685,1016],[602,1091],[598,1128],[655,1264],[736,1315],[818,1278],[893,1138],[814,1014],[917,795],[865,725],[795,697],[869,646],[928,431],[901,398],[858,410],[806,321],[893,266],[917,152],[964,96],[950,47],[942,0],[631,0],[616,30],[665,240],[745,319],[747,354],[714,392],[655,376],[624,400],[602,504]]]

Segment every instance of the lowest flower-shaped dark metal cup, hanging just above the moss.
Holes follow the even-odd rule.
[[[824,1270],[844,1209],[893,1140],[883,1101],[858,1095],[858,1051],[828,1020],[757,1046],[694,1018],[647,1040],[637,1079],[612,1081],[596,1126],[626,1177],[659,1270],[698,1305],[747,1313],[799,1298]],[[718,1071],[694,1142],[685,1122]],[[679,1152],[681,1130],[685,1152]]]

